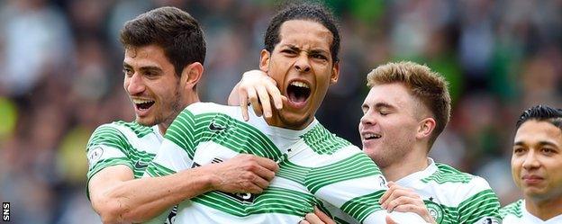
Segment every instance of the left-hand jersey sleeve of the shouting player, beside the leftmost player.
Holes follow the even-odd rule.
[[[187,109],[172,122],[159,151],[146,169],[145,176],[173,175],[191,168],[195,154],[198,126],[195,115]]]

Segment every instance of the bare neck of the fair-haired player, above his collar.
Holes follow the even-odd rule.
[[[386,180],[396,182],[407,175],[424,170],[429,166],[427,150],[423,148],[413,149],[403,159],[394,162],[390,166],[380,167]]]

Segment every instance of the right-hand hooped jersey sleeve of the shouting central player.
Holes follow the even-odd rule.
[[[305,185],[316,197],[361,223],[385,223],[387,213],[378,202],[386,190],[385,177],[359,150],[350,157],[314,168]],[[396,213],[394,217],[400,223],[424,223],[412,213]]]

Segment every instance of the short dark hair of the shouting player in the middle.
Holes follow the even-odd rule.
[[[264,38],[265,49],[273,52],[277,43],[279,43],[279,30],[283,22],[292,20],[305,20],[321,23],[331,32],[333,40],[331,41],[330,51],[333,62],[338,62],[338,53],[340,52],[340,31],[336,25],[333,15],[321,4],[289,4],[281,12],[277,13],[267,26],[266,36]]]

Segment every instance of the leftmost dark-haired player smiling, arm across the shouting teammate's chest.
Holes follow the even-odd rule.
[[[87,193],[104,223],[150,220],[177,202],[213,190],[260,193],[266,188],[277,165],[250,155],[139,179],[170,123],[186,105],[199,101],[195,86],[204,70],[205,43],[198,22],[174,7],[125,23],[121,42],[123,87],[136,121],[104,124],[87,144]]]

